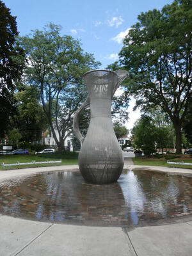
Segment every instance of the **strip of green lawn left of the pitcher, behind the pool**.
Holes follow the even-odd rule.
[[[55,165],[69,165],[69,164],[78,164],[77,161],[78,154],[76,152],[53,152],[47,154],[39,155],[6,155],[0,156],[0,163],[4,164],[13,164],[13,163],[30,163],[35,162],[44,162],[44,161],[57,161],[61,159],[61,163],[57,164],[29,164],[22,166],[0,166],[0,170],[10,170],[10,169],[21,169],[21,168],[31,168],[37,166],[55,166]]]

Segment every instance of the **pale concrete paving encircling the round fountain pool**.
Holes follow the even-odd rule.
[[[125,168],[130,167],[131,162]],[[192,174],[189,169],[134,166],[170,173]],[[0,171],[0,181],[20,175],[77,166],[52,166]],[[192,221],[150,227],[86,227],[0,216],[0,256],[190,256]]]

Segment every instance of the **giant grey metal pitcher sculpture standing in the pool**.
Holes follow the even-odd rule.
[[[84,180],[93,184],[116,182],[124,167],[122,150],[111,122],[111,99],[125,77],[124,70],[92,70],[83,75],[88,97],[74,116],[74,133],[81,143],[80,172]],[[83,138],[79,116],[89,105],[91,120],[86,138]]]

